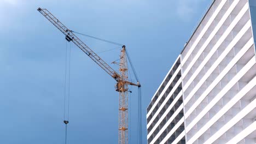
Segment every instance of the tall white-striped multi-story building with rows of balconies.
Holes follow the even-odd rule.
[[[216,0],[147,108],[148,143],[256,143],[256,0]]]

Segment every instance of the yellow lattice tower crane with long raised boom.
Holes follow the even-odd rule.
[[[100,66],[104,71],[106,71],[110,76],[117,81],[115,85],[115,90],[119,93],[119,144],[128,143],[128,86],[141,87],[139,82],[133,83],[128,79],[128,65],[126,58],[126,48],[125,45],[122,46],[120,63],[119,63],[119,73],[117,73],[112,67],[110,67],[106,62],[101,59],[94,51],[92,51],[86,44],[80,40],[73,31],[68,29],[63,25],[59,19],[57,19],[53,14],[47,9],[38,8],[37,9],[46,19],[48,19],[55,27],[57,27],[64,35],[65,39],[70,42],[72,41],[75,45],[79,47],[87,56],[89,56],[98,66]]]

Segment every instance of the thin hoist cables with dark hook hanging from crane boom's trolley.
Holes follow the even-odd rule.
[[[69,45],[69,52],[68,52],[68,45],[66,43],[64,115],[63,115],[63,123],[65,123],[65,144],[67,144],[67,124],[69,123],[70,59],[71,59],[71,44]],[[67,97],[67,101],[66,101],[66,97]],[[67,107],[67,110],[66,110],[66,107]]]

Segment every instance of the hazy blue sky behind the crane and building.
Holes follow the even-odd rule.
[[[50,10],[73,31],[126,45],[142,84],[146,143],[146,107],[209,4],[209,0],[0,0],[0,143],[64,143],[66,40],[38,7]],[[116,47],[80,38],[95,52]],[[117,143],[115,81],[73,44],[71,49],[68,143]],[[100,56],[110,64],[119,51]],[[136,143],[137,89],[132,91],[130,143]]]

